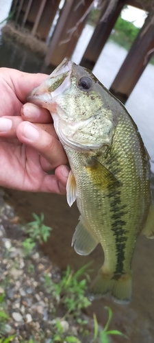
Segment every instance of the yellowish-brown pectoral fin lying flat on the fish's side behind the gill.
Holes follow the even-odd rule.
[[[100,163],[97,158],[92,157],[88,165],[86,166],[88,173],[90,174],[90,178],[94,185],[100,187],[101,189],[106,189],[107,187],[114,187],[120,186],[120,181],[116,178],[116,176],[105,167],[102,163]]]

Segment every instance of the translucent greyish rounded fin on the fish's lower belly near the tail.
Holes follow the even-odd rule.
[[[99,242],[90,235],[86,230],[82,217],[80,217],[79,224],[75,228],[75,233],[72,239],[72,246],[74,245],[75,251],[79,255],[89,255],[90,252],[96,248]]]

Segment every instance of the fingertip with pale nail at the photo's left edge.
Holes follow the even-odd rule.
[[[0,137],[16,137],[16,128],[22,121],[19,116],[0,117]]]

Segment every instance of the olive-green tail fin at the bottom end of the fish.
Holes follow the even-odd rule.
[[[90,286],[90,298],[102,298],[111,292],[115,303],[128,304],[131,301],[131,288],[131,272],[116,277],[114,274],[104,274],[100,269]]]

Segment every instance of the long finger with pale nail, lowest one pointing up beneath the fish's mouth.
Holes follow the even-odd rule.
[[[68,163],[66,154],[60,141],[51,136],[48,132],[28,121],[19,124],[16,134],[18,139],[34,147],[36,151],[51,163],[52,168]]]

